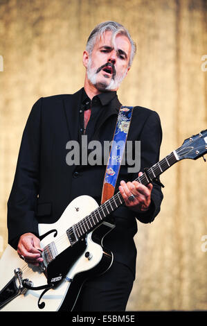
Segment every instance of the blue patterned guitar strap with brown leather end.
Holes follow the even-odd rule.
[[[105,203],[106,200],[114,196],[120,164],[123,160],[123,153],[125,152],[133,109],[134,107],[132,106],[120,107],[102,186],[101,203]]]

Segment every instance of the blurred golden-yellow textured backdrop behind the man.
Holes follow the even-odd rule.
[[[82,87],[92,28],[105,20],[129,28],[138,51],[118,95],[159,113],[164,157],[207,125],[206,12],[205,0],[0,0],[0,255],[30,108],[41,96]],[[183,160],[163,174],[161,213],[138,223],[128,310],[207,309],[206,164]]]

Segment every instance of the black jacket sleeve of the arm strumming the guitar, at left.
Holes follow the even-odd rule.
[[[8,199],[8,243],[15,249],[21,234],[31,232],[38,236],[35,211],[39,189],[41,104],[42,98],[33,105],[26,122]]]

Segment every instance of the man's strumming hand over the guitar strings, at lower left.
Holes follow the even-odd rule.
[[[19,238],[17,252],[19,256],[23,256],[28,264],[39,266],[43,261],[43,249],[40,248],[40,240],[33,233],[24,233]],[[21,258],[23,258],[21,257]]]

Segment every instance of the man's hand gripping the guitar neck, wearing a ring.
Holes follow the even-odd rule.
[[[138,173],[141,176],[143,173]],[[151,203],[152,183],[144,186],[138,181],[125,182],[121,181],[119,191],[125,205],[135,212],[146,212]],[[131,198],[131,200],[130,200]]]

